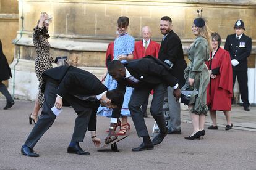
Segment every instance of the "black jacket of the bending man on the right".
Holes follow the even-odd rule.
[[[125,79],[117,80],[117,89],[119,91],[126,91],[126,87],[151,87],[157,84],[165,83],[173,87],[177,84],[177,79],[173,76],[171,68],[156,59],[153,56],[146,56],[142,59],[131,60],[124,63],[124,67],[129,71],[130,75],[140,81],[139,84],[130,84]],[[119,118],[121,108],[113,109],[112,117]]]

